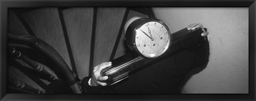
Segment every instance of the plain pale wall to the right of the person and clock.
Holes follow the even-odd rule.
[[[183,93],[249,93],[248,8],[153,8],[156,18],[176,32],[191,23],[209,31],[209,63],[193,75]]]

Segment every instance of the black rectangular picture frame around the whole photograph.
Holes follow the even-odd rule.
[[[7,9],[8,7],[249,7],[249,94],[7,94]],[[255,100],[255,0],[139,0],[139,1],[0,1],[0,99],[1,100]]]

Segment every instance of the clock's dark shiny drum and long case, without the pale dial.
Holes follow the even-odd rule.
[[[134,45],[136,34],[134,31],[138,30],[144,23],[148,21],[158,21],[159,23],[162,23],[166,26],[166,24],[164,24],[162,21],[156,19],[143,18],[134,20],[126,30],[125,41],[127,46],[129,46],[129,48],[137,54],[130,53],[118,57],[115,60],[111,61],[111,66],[101,71],[102,76],[108,76],[108,79],[105,81],[107,85],[114,85],[115,83],[128,78],[129,75],[131,75],[133,72],[139,71],[143,68],[147,68],[147,66],[157,63],[164,58],[173,56],[185,50],[197,48],[197,46],[207,40],[207,36],[202,35],[202,33],[205,33],[206,35],[208,34],[206,28],[203,28],[202,26],[194,30],[188,30],[187,28],[183,28],[171,34],[169,46],[167,46],[168,48],[162,55],[154,58],[149,58],[141,55],[141,53],[138,52],[137,47]]]

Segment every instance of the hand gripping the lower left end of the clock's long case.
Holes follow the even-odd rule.
[[[101,63],[97,66],[94,67],[94,70],[93,70],[93,75],[92,75],[92,78],[91,78],[91,85],[92,86],[106,86],[107,83],[106,82],[102,82],[104,80],[107,80],[108,77],[107,76],[104,76],[102,77],[100,75],[100,72],[102,69],[105,69],[107,68],[108,66],[111,66],[112,63],[111,62],[104,62],[104,63]]]

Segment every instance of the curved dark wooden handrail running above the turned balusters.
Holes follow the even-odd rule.
[[[38,51],[43,52],[46,56],[50,57],[53,64],[56,65],[51,68],[59,70],[58,72],[60,73],[60,75],[58,75],[58,77],[66,81],[75,94],[82,93],[79,89],[77,80],[73,76],[73,71],[69,69],[67,63],[52,46],[45,43],[45,41],[31,35],[8,33],[7,37],[9,43],[23,44],[29,47],[33,47]]]

